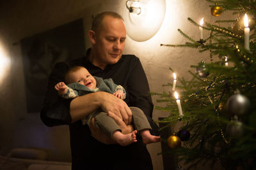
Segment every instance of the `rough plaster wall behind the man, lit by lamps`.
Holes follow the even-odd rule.
[[[76,3],[75,3],[76,2]],[[77,18],[84,19],[84,34],[86,48],[90,46],[87,31],[90,29],[92,15],[99,11],[113,10],[125,15],[125,0],[27,0],[0,2],[0,46],[5,56],[11,60],[6,65],[7,71],[0,80],[0,153],[8,153],[13,147],[45,148],[52,160],[70,160],[68,127],[45,127],[39,118],[39,113],[26,113],[24,92],[24,74],[19,40],[33,34],[52,29]],[[154,11],[150,11],[154,13]],[[223,13],[221,17],[227,17]],[[177,76],[189,78],[188,70],[191,64],[200,60],[209,61],[209,52],[198,53],[190,48],[170,48],[164,44],[179,44],[186,42],[177,29],[182,29],[192,38],[199,39],[198,27],[188,22],[191,17],[199,22],[202,17],[212,22],[209,4],[202,0],[166,0],[166,14],[159,31],[151,39],[137,42],[127,37],[124,53],[137,55],[145,69],[152,92],[168,91],[162,87],[172,81],[172,67]],[[204,32],[204,36],[209,35]],[[12,43],[18,42],[18,45]],[[1,55],[0,55],[1,57]],[[193,69],[192,69],[193,71]],[[179,85],[179,82],[177,83]],[[155,105],[155,97],[153,97]],[[166,117],[168,113],[154,111],[153,118]],[[154,169],[163,169],[160,143],[148,145],[152,156]]]

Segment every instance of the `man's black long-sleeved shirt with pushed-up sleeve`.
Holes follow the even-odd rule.
[[[80,120],[71,124],[71,100],[59,97],[54,85],[64,81],[65,73],[72,66],[86,67],[93,76],[112,78],[116,84],[122,85],[127,91],[125,103],[143,110],[152,126],[152,134],[157,134],[157,126],[152,120],[153,104],[148,95],[148,81],[138,57],[122,55],[116,64],[108,65],[103,70],[93,66],[88,55],[56,64],[49,78],[41,118],[48,126],[69,125],[72,169],[152,169],[150,155],[140,138],[128,146],[104,145],[92,138],[90,129]]]

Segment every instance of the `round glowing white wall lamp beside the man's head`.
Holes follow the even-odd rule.
[[[165,0],[126,1],[124,13],[127,34],[135,41],[147,41],[160,29],[165,15]]]

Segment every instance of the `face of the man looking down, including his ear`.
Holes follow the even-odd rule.
[[[125,46],[126,30],[124,22],[119,18],[104,17],[102,27],[95,32],[96,54],[93,64],[105,67],[115,64],[122,57]]]

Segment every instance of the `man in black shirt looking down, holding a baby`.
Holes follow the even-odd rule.
[[[42,121],[49,126],[69,125],[73,170],[152,169],[150,155],[140,137],[128,146],[111,144],[113,141],[97,130],[94,124],[88,127],[81,123],[81,118],[101,109],[115,120],[124,134],[132,132],[129,106],[136,106],[143,110],[152,129],[157,132],[157,126],[152,121],[153,104],[148,96],[148,81],[140,60],[134,55],[122,55],[126,38],[122,17],[114,12],[100,13],[93,19],[88,35],[92,48],[87,51],[86,57],[54,67],[41,111]],[[95,92],[73,100],[61,99],[54,85],[64,81],[65,73],[72,66],[86,67],[94,76],[112,78],[127,90],[125,101],[106,92]]]

